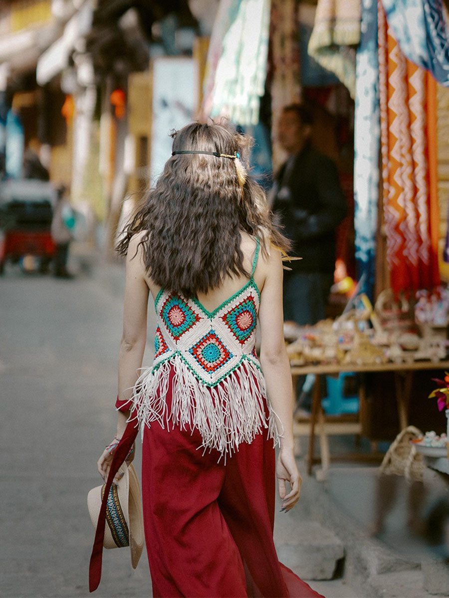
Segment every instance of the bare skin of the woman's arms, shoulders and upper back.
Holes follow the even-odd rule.
[[[119,353],[119,396],[129,398],[129,390],[135,385],[137,370],[144,355],[148,297],[156,298],[160,287],[151,280],[141,259],[138,243],[142,233],[136,234],[129,243],[126,259],[125,305],[123,334]],[[242,233],[241,249],[244,266],[251,271],[256,243],[247,233]],[[136,253],[137,252],[137,253]],[[276,475],[282,509],[290,511],[299,500],[301,475],[295,461],[293,441],[293,391],[290,363],[284,343],[282,280],[283,269],[280,252],[271,248],[268,258],[259,254],[254,280],[260,291],[259,327],[261,333],[260,365],[265,376],[266,388],[272,408],[278,416],[277,427],[281,440]],[[247,283],[245,277],[227,277],[223,285],[198,299],[207,310],[214,310]],[[126,428],[129,413],[118,412],[117,437]],[[98,460],[98,471],[107,478],[112,455],[104,450]],[[117,478],[114,481],[118,481]]]

